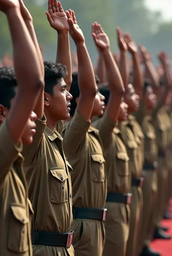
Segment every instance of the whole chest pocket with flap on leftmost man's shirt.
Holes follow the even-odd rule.
[[[7,239],[7,247],[10,251],[17,253],[28,251],[28,224],[26,207],[18,204],[11,205]]]

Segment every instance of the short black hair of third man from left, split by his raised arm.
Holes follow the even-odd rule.
[[[95,75],[95,82],[98,85],[99,84],[99,78],[97,75]],[[72,95],[72,99],[70,100],[71,106],[70,106],[70,115],[73,116],[75,113],[75,109],[77,107],[76,98],[79,97],[79,86],[78,86],[78,72],[72,73],[72,83],[70,86],[70,91]]]

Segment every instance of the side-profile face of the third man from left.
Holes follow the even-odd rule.
[[[100,116],[103,115],[103,111],[105,110],[105,96],[103,96],[97,87],[97,93],[94,100],[93,110],[91,117],[94,117],[96,115]]]

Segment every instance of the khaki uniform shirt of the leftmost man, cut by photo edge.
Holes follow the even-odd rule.
[[[0,255],[32,256],[32,205],[22,168],[22,144],[15,145],[7,127],[0,126]]]

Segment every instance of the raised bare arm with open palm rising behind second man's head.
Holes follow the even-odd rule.
[[[57,31],[57,56],[56,62],[67,67],[68,75],[64,78],[66,90],[69,92],[72,82],[71,76],[71,54],[69,43],[69,24],[67,16],[64,12],[61,3],[57,0],[48,0],[48,12],[46,12],[50,26]]]

